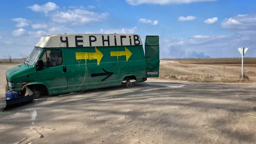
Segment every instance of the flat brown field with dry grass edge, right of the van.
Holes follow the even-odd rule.
[[[159,74],[160,79],[169,80],[252,82],[256,80],[256,58],[244,58],[244,74],[249,77],[249,80],[239,78],[241,58],[161,59]]]

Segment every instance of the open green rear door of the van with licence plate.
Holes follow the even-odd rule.
[[[146,36],[145,58],[147,77],[159,77],[159,36]]]

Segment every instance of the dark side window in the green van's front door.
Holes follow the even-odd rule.
[[[62,65],[61,50],[46,50],[41,58],[44,63],[44,68]]]

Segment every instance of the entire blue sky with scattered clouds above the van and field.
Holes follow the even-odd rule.
[[[0,58],[56,33],[160,36],[160,58],[256,57],[255,0],[0,1]]]

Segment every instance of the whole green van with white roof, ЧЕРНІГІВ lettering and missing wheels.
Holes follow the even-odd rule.
[[[49,95],[144,82],[159,77],[159,36],[55,34],[43,36],[24,64],[6,72],[6,90]]]

